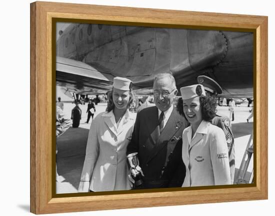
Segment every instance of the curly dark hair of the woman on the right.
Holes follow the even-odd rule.
[[[212,96],[199,96],[199,104],[201,107],[201,117],[204,121],[211,121],[216,116],[216,99]],[[177,112],[182,115],[185,119],[185,115],[183,113],[183,100],[182,98],[178,98],[176,104]]]

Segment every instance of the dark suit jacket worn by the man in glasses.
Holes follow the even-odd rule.
[[[137,152],[144,178],[144,188],[181,187],[185,167],[181,159],[182,131],[188,122],[176,109],[160,135],[158,110],[148,107],[137,113],[127,155]]]

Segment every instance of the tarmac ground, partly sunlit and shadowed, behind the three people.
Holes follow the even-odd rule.
[[[72,103],[64,103],[65,118],[70,119],[71,109],[75,105]],[[57,173],[56,177],[56,194],[77,193],[82,166],[85,158],[86,141],[90,128],[87,120],[87,103],[79,105],[82,110],[80,125],[78,128],[70,127],[62,135],[56,138],[58,153],[56,154]],[[95,105],[96,112],[94,117],[106,109],[106,103],[98,103]],[[235,107],[234,121],[232,124],[232,132],[235,143],[235,177],[237,176],[239,166],[241,164],[249,137],[253,134],[253,118],[246,122],[246,118],[250,115],[251,108],[247,107],[247,103],[243,103]],[[217,114],[221,116],[229,116],[228,107],[218,106]],[[247,174],[250,175],[253,169],[253,160],[251,159]],[[247,177],[246,177],[246,180]]]

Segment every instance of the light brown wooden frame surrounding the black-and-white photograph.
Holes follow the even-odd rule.
[[[267,199],[267,17],[56,2],[30,4],[30,212],[80,212]],[[52,163],[55,95],[52,80],[53,19],[97,23],[248,29],[254,32],[254,175],[255,183],[236,187],[148,191],[98,196],[54,196]],[[55,87],[55,86],[54,86]]]

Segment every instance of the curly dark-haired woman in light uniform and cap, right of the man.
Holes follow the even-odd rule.
[[[180,88],[183,113],[190,126],[182,132],[182,160],[186,176],[182,187],[229,185],[228,150],[223,131],[210,123],[215,117],[215,98],[203,85]]]

